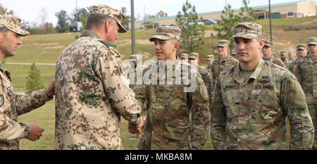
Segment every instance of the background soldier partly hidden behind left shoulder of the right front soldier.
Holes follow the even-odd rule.
[[[228,40],[219,40],[217,44],[218,58],[213,61],[211,65],[211,72],[213,77],[213,88],[215,87],[216,79],[220,75],[220,72],[223,70],[230,68],[232,65],[236,65],[239,61],[236,58],[228,55]]]

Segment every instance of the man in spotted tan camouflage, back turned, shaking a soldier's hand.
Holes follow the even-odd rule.
[[[126,32],[124,15],[91,6],[87,30],[63,50],[56,63],[54,149],[123,149],[121,116],[142,127],[141,108],[113,46]]]

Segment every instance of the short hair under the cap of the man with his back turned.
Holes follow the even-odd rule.
[[[108,15],[103,15],[99,13],[92,13],[87,18],[86,29],[90,30],[93,27],[99,27],[106,23],[106,21],[111,21],[111,24],[115,25],[116,20],[109,17]]]

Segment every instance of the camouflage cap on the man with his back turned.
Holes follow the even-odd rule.
[[[123,13],[121,13],[121,11],[119,11],[118,9],[106,5],[93,5],[90,7],[90,14],[92,13],[107,15],[115,19],[120,28],[118,32],[127,32],[127,30],[125,30],[125,27],[121,25],[121,23],[125,19],[125,15],[123,15]]]

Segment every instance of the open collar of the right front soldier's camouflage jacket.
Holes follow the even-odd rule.
[[[263,58],[260,58],[260,61],[259,63],[256,65],[256,68],[254,70],[254,72],[252,72],[251,76],[249,77],[250,79],[257,79],[260,75],[260,72],[263,68],[263,65],[264,65],[264,60]],[[236,65],[236,68],[235,68],[235,72],[233,73],[233,79],[238,82],[239,84],[243,84],[244,83],[244,78],[242,76],[242,72],[240,70],[240,63],[238,63]]]

